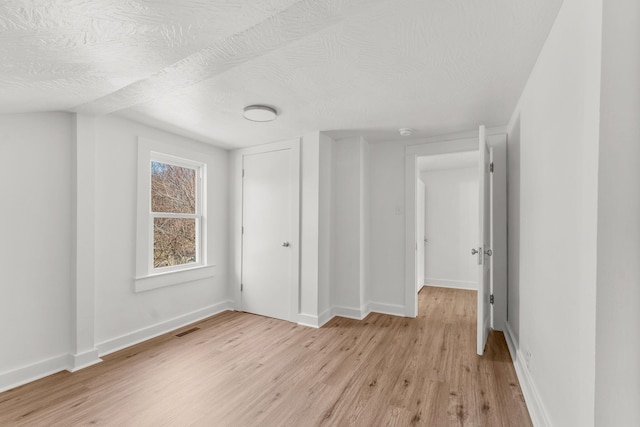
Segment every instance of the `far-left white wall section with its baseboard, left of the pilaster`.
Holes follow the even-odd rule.
[[[0,116],[0,135],[1,391],[70,351],[71,115]]]

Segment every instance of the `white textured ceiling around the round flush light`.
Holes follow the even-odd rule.
[[[231,147],[507,123],[562,0],[3,0],[0,113],[115,113]],[[253,123],[246,105],[279,118]]]

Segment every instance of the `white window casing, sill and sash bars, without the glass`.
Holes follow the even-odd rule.
[[[142,292],[215,275],[207,256],[207,164],[196,160],[198,153],[183,147],[138,138],[138,200],[136,230],[136,275],[134,291]],[[151,212],[151,162],[158,161],[198,171],[196,214],[153,214]],[[179,266],[153,266],[153,218],[178,217],[196,220],[196,262]],[[198,224],[199,223],[199,224]]]

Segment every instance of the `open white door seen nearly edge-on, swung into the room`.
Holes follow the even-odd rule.
[[[480,151],[479,175],[480,182],[480,233],[478,240],[478,248],[475,248],[478,256],[478,354],[484,353],[484,347],[489,336],[490,320],[491,320],[491,304],[489,297],[491,294],[491,256],[490,236],[490,176],[489,163],[491,153],[487,144],[485,128],[480,126],[478,149]]]

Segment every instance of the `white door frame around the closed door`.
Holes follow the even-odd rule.
[[[268,153],[271,151],[291,150],[291,306],[289,321],[298,322],[300,311],[300,138],[256,145],[233,150],[230,153],[231,188],[231,230],[230,249],[232,255],[229,279],[233,286],[233,305],[236,310],[242,309],[242,165],[244,156]]]

